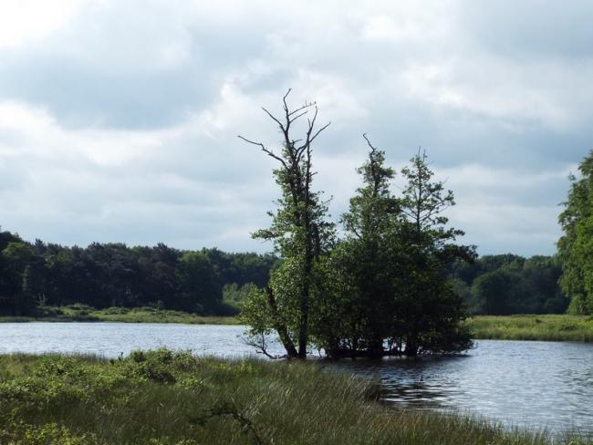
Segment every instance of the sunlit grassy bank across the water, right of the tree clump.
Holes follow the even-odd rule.
[[[475,316],[475,338],[593,342],[593,316]]]

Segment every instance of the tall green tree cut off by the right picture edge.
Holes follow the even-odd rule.
[[[558,221],[564,235],[558,240],[562,264],[560,286],[571,297],[569,310],[593,313],[593,150],[579,164],[580,178],[570,176],[570,190]]]

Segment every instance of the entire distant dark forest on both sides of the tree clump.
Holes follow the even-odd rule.
[[[234,315],[247,292],[266,285],[273,254],[184,251],[165,244],[65,247],[0,232],[0,314],[27,316],[39,305],[153,306]],[[485,255],[454,264],[454,289],[473,315],[560,314],[568,298],[555,256]]]

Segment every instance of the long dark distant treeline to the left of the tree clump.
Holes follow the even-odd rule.
[[[223,289],[265,285],[276,257],[182,251],[165,244],[88,247],[27,243],[0,232],[0,313],[26,316],[38,305],[81,303],[96,308],[152,305],[200,315],[232,315]]]

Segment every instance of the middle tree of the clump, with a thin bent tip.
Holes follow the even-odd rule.
[[[332,254],[336,274],[334,302],[328,301],[324,320],[328,355],[381,357],[395,311],[393,239],[400,218],[399,203],[390,191],[395,171],[385,166],[385,153],[369,145],[369,158],[359,169],[362,186],[350,199],[341,222],[346,237]],[[332,295],[326,290],[326,295]],[[330,318],[338,317],[339,326]],[[332,326],[331,330],[327,327]],[[337,337],[338,336],[338,337]]]

